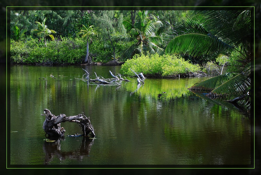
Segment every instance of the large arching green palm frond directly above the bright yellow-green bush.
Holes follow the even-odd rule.
[[[189,18],[165,37],[165,53],[201,56],[216,52],[231,52],[234,46],[210,33],[202,23],[203,19]]]

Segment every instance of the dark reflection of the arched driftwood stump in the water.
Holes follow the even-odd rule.
[[[43,150],[45,153],[44,165],[50,164],[54,158],[58,158],[60,161],[65,159],[76,159],[81,161],[85,156],[88,156],[94,139],[82,136],[82,141],[79,149],[70,151],[61,151],[61,140],[65,140],[63,137],[59,137],[55,142],[44,142]]]

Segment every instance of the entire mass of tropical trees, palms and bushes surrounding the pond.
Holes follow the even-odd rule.
[[[122,65],[126,76],[163,78],[208,73],[214,77],[190,89],[232,100],[251,91],[250,10],[15,10],[10,21],[11,64]]]

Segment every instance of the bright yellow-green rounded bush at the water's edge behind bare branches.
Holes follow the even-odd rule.
[[[173,76],[185,74],[189,70],[192,72],[200,70],[198,64],[191,64],[182,57],[170,55],[159,56],[158,54],[135,55],[133,59],[127,60],[122,65],[121,73],[124,75],[134,75],[129,68],[132,68],[136,72],[143,72],[146,76]]]

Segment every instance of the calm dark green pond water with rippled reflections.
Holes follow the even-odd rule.
[[[11,65],[10,165],[251,164],[250,115],[188,90],[209,77],[148,78],[141,85],[126,77],[131,81],[119,87],[88,82],[82,69],[91,79],[94,72],[104,78],[120,72],[120,66]],[[84,113],[95,139],[44,141],[45,108],[56,116]],[[65,135],[81,133],[76,123],[61,126]]]

